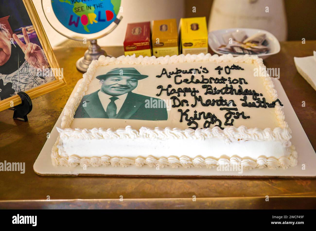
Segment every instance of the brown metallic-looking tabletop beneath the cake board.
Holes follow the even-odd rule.
[[[122,47],[105,48],[123,54]],[[280,81],[316,147],[316,92],[296,71],[293,57],[313,54],[316,41],[281,42],[264,60],[280,68]],[[0,208],[316,208],[316,179],[198,177],[43,177],[33,164],[82,73],[75,62],[85,48],[55,50],[68,85],[33,101],[28,122],[0,112],[0,162],[25,162],[25,173],[0,172]],[[302,107],[305,101],[306,107]],[[299,154],[300,155],[300,154]],[[50,201],[46,201],[49,196]],[[120,201],[123,196],[123,201]],[[196,201],[192,197],[196,196]],[[269,196],[269,201],[266,201]]]

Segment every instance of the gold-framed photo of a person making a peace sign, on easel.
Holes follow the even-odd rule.
[[[0,111],[66,84],[32,0],[0,0]]]

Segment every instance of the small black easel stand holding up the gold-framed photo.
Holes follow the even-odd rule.
[[[17,94],[20,96],[22,103],[9,109],[14,111],[13,119],[26,122],[27,114],[32,110],[32,100],[25,92],[18,92]]]

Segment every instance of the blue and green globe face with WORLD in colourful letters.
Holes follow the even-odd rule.
[[[93,34],[108,27],[119,13],[121,0],[52,0],[58,21],[71,31]]]

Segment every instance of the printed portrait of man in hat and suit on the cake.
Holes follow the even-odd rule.
[[[100,90],[83,96],[74,118],[167,120],[167,108],[162,99],[132,92],[138,81],[147,77],[135,68],[115,68],[97,76]],[[148,107],[148,100],[156,100],[161,106]]]

